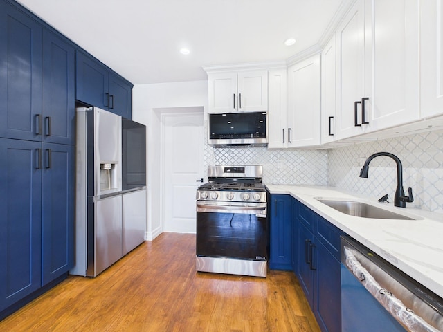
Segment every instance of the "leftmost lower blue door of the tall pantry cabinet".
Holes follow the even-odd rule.
[[[41,145],[0,138],[0,311],[41,286]]]

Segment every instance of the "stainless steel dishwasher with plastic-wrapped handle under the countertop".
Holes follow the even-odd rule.
[[[443,299],[341,237],[341,319],[342,331],[443,331]]]

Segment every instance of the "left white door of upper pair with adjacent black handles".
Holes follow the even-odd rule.
[[[338,27],[336,138],[363,133],[361,98],[365,74],[365,1],[357,0]],[[369,37],[369,36],[368,36]]]

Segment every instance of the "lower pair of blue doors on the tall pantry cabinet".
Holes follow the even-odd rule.
[[[74,147],[0,138],[0,320],[73,264]]]

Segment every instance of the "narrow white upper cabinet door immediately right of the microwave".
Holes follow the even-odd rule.
[[[287,70],[269,71],[268,148],[287,145]]]

